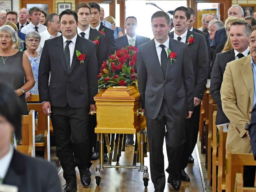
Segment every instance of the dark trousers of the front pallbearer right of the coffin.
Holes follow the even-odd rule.
[[[165,138],[169,173],[173,174],[180,167],[181,152],[185,142],[185,120],[176,120],[163,101],[156,119],[147,118],[147,135],[150,151],[150,172],[155,189],[165,188],[163,141]],[[166,126],[166,129],[165,129]]]

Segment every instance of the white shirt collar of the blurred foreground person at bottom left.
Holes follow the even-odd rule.
[[[4,179],[9,169],[11,159],[13,158],[13,146],[10,144],[10,150],[0,159],[0,178]]]

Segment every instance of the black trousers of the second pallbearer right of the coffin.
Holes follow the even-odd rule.
[[[191,118],[185,120],[186,142],[183,146],[180,170],[185,169],[188,164],[189,155],[192,154],[197,144],[199,131],[200,105],[194,107]]]

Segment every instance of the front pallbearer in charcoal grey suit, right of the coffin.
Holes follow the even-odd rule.
[[[169,16],[158,11],[151,23],[155,38],[139,46],[137,52],[138,87],[141,111],[147,118],[151,179],[155,192],[163,192],[165,136],[171,165],[168,180],[175,190],[180,188],[180,151],[186,140],[185,119],[193,113],[195,86],[188,46],[168,36]]]

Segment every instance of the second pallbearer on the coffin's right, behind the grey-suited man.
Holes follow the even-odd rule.
[[[193,157],[191,153],[197,143],[197,135],[199,130],[199,114],[200,103],[206,89],[208,78],[209,57],[208,49],[204,35],[187,30],[189,24],[190,13],[186,7],[178,7],[174,10],[173,23],[175,30],[169,34],[169,37],[188,44],[189,54],[193,63],[193,71],[195,78],[194,95],[194,112],[190,119],[186,120],[186,142],[182,152],[182,161],[180,166],[180,174],[182,181],[190,181],[189,176],[185,172],[187,163]],[[192,39],[193,38],[193,39]]]

